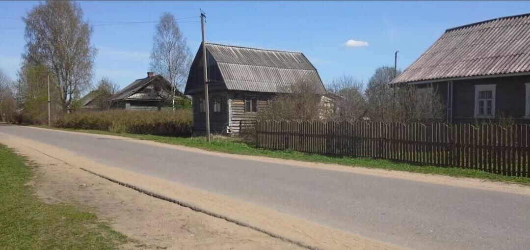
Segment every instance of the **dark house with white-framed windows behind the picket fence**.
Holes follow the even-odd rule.
[[[530,121],[530,14],[448,29],[392,84],[436,88],[447,122]]]

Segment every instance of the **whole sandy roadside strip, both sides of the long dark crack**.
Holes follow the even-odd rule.
[[[86,173],[80,168],[172,197],[201,210],[319,249],[400,249],[345,231],[261,208],[229,197],[137,174],[44,143],[3,135],[0,142],[41,166],[39,196],[48,202],[87,206],[112,227],[137,240],[127,248],[300,249],[285,240],[237,226]]]

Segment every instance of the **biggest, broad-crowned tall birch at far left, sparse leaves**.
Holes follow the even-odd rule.
[[[52,73],[66,111],[76,94],[90,87],[96,54],[90,44],[92,27],[83,21],[80,5],[72,1],[39,3],[23,21],[24,59],[30,65],[44,65]]]

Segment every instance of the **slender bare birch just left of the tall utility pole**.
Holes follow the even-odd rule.
[[[156,25],[151,52],[151,70],[171,83],[172,107],[175,109],[175,90],[181,90],[191,65],[191,53],[180,32],[175,16],[164,13]]]

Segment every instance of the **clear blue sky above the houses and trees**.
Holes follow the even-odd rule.
[[[20,18],[38,2],[0,2],[0,28],[23,28]],[[367,80],[375,68],[414,61],[447,28],[530,12],[530,2],[80,2],[85,20],[155,21],[171,12],[199,21],[206,12],[206,40],[220,44],[303,52],[325,82],[341,74]],[[94,27],[94,82],[108,76],[122,87],[149,67],[154,23]],[[180,23],[193,54],[200,22]],[[346,46],[348,40],[350,45]],[[0,68],[13,79],[24,50],[23,29],[0,29]],[[367,45],[367,46],[366,46]]]

